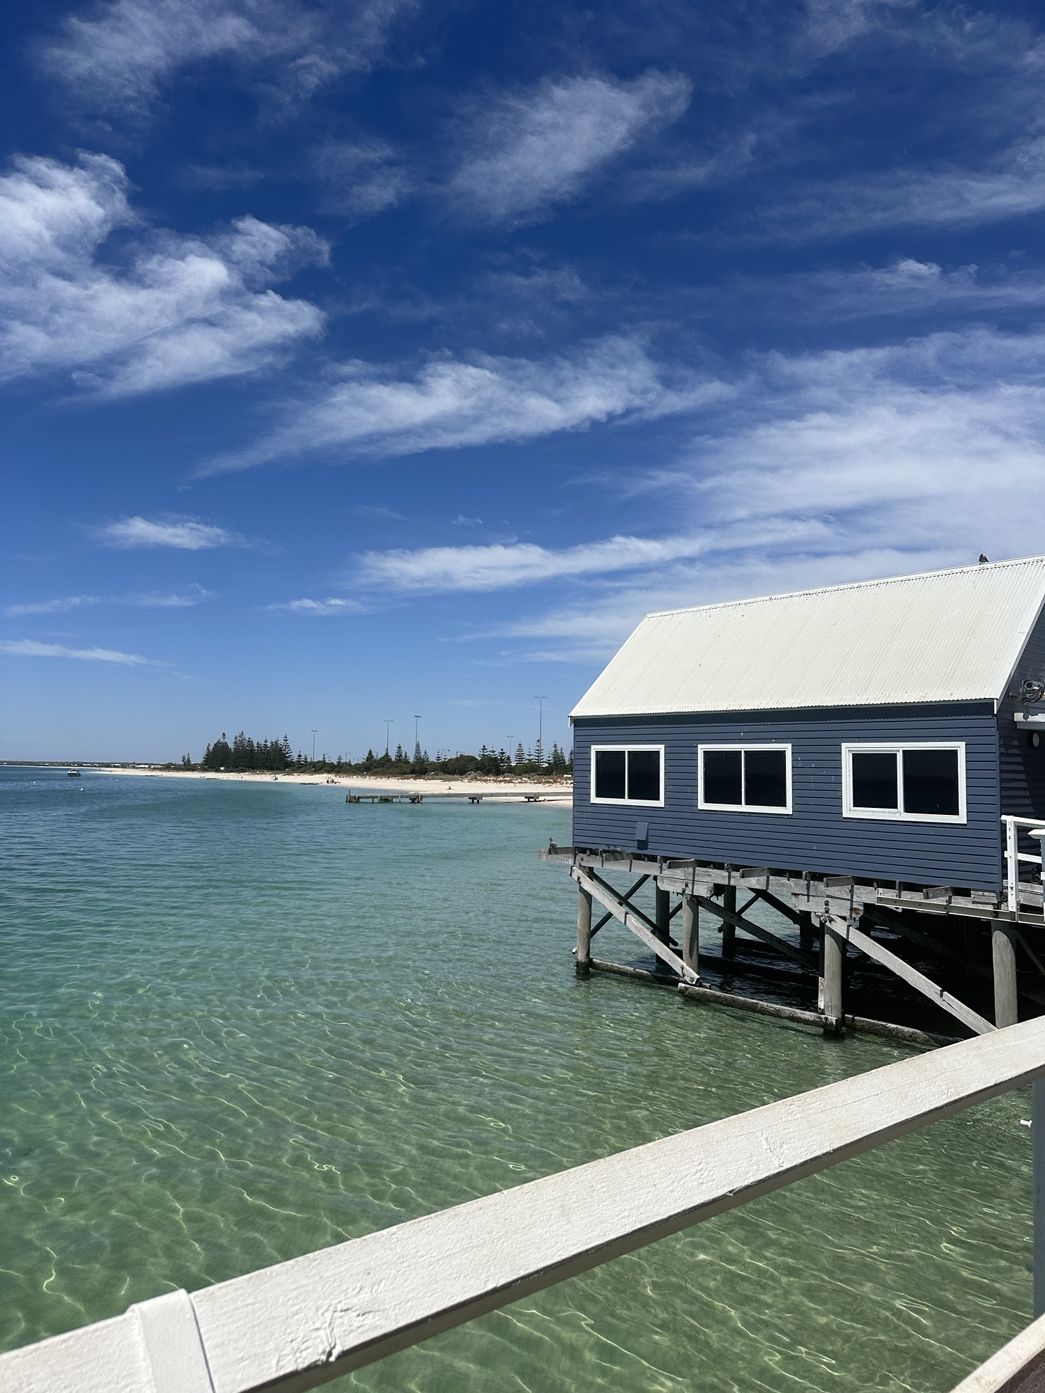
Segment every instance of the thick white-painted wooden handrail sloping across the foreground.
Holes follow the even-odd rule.
[[[311,1389],[1037,1080],[1045,1080],[1045,1017],[191,1295],[155,1297],[114,1319],[0,1357],[0,1389]],[[1034,1084],[1034,1107],[1035,1314],[1041,1314],[1045,1082]],[[1003,1386],[1020,1385],[982,1385]]]

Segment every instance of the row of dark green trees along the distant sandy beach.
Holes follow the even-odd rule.
[[[192,762],[191,755],[181,756],[183,769],[229,769],[245,773],[248,770],[265,770],[281,773],[295,769],[304,773],[339,773],[339,775],[568,775],[573,773],[573,751],[567,755],[556,741],[550,755],[545,755],[538,745],[527,751],[522,744],[516,747],[514,756],[506,749],[488,749],[482,747],[478,755],[467,755],[460,751],[453,755],[449,751],[436,751],[436,758],[429,758],[421,745],[414,747],[412,758],[405,754],[403,745],[396,745],[396,752],[375,755],[366,751],[366,758],[355,763],[339,755],[330,759],[322,755],[319,759],[307,759],[301,751],[293,752],[290,740],[252,740],[240,731],[231,745],[229,737],[222,731],[222,738],[213,745],[208,745],[199,763]]]

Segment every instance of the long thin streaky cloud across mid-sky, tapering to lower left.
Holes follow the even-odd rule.
[[[215,460],[202,472],[244,469],[326,450],[341,458],[417,454],[493,442],[534,440],[599,422],[652,418],[720,396],[720,383],[665,380],[631,338],[609,337],[532,362],[475,354],[433,358],[412,379],[348,364],[343,382],[297,404],[266,440]]]

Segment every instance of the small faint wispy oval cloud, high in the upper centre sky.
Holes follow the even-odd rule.
[[[642,135],[679,120],[691,91],[681,74],[651,70],[633,82],[575,77],[500,95],[468,113],[470,149],[447,194],[481,221],[536,221]]]

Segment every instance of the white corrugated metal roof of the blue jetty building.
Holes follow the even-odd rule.
[[[571,716],[998,701],[1042,602],[1031,556],[647,614]]]

